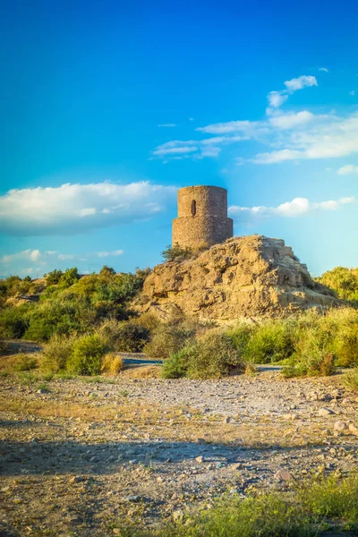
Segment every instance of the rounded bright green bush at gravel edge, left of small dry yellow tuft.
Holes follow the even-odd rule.
[[[79,337],[72,345],[66,369],[77,375],[99,375],[107,345],[98,334]]]

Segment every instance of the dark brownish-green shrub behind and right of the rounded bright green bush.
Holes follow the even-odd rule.
[[[98,333],[110,348],[123,353],[140,353],[150,337],[149,329],[142,327],[136,320],[107,320]]]

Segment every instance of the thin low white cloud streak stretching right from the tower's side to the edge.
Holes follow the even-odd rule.
[[[234,205],[229,208],[229,214],[232,217],[300,217],[317,210],[337,210],[347,203],[354,202],[354,197],[319,202],[311,202],[307,198],[294,198],[294,200],[281,203],[277,207],[259,206],[249,208]]]

